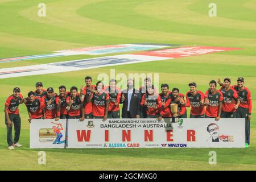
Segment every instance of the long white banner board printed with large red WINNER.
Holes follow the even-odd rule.
[[[69,119],[68,148],[243,148],[245,119]]]

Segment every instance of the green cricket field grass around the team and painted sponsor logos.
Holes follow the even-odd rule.
[[[46,3],[46,17],[38,4]],[[38,55],[61,49],[127,43],[167,43],[186,46],[240,47],[237,51],[152,61],[77,72],[0,80],[0,170],[255,170],[256,169],[256,1],[215,0],[217,17],[208,15],[209,0],[0,0],[0,58]],[[85,59],[65,56],[0,63],[0,68]],[[188,91],[196,82],[205,92],[218,77],[245,78],[253,96],[249,148],[67,149],[46,151],[47,164],[38,164],[38,151],[29,148],[29,123],[20,105],[22,148],[7,149],[4,102],[19,86],[23,95],[35,82],[57,89],[97,81],[99,73],[159,73],[160,83]],[[217,152],[217,165],[209,165],[209,151]]]

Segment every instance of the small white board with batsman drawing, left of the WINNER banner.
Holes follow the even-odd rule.
[[[67,119],[32,119],[30,148],[64,148]]]

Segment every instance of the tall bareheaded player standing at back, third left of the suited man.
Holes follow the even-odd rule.
[[[87,98],[89,97],[90,90],[95,89],[95,85],[92,85],[92,77],[86,76],[84,79],[86,86],[84,87],[82,94],[84,95],[84,102],[82,107],[82,117],[84,118],[93,118],[92,111],[93,105],[92,102],[88,102]]]

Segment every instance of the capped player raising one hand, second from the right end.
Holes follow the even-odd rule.
[[[224,84],[221,84],[220,80],[218,82],[222,86],[220,92],[223,94],[221,118],[234,118],[240,105],[237,91],[230,86],[230,78],[225,78]]]

